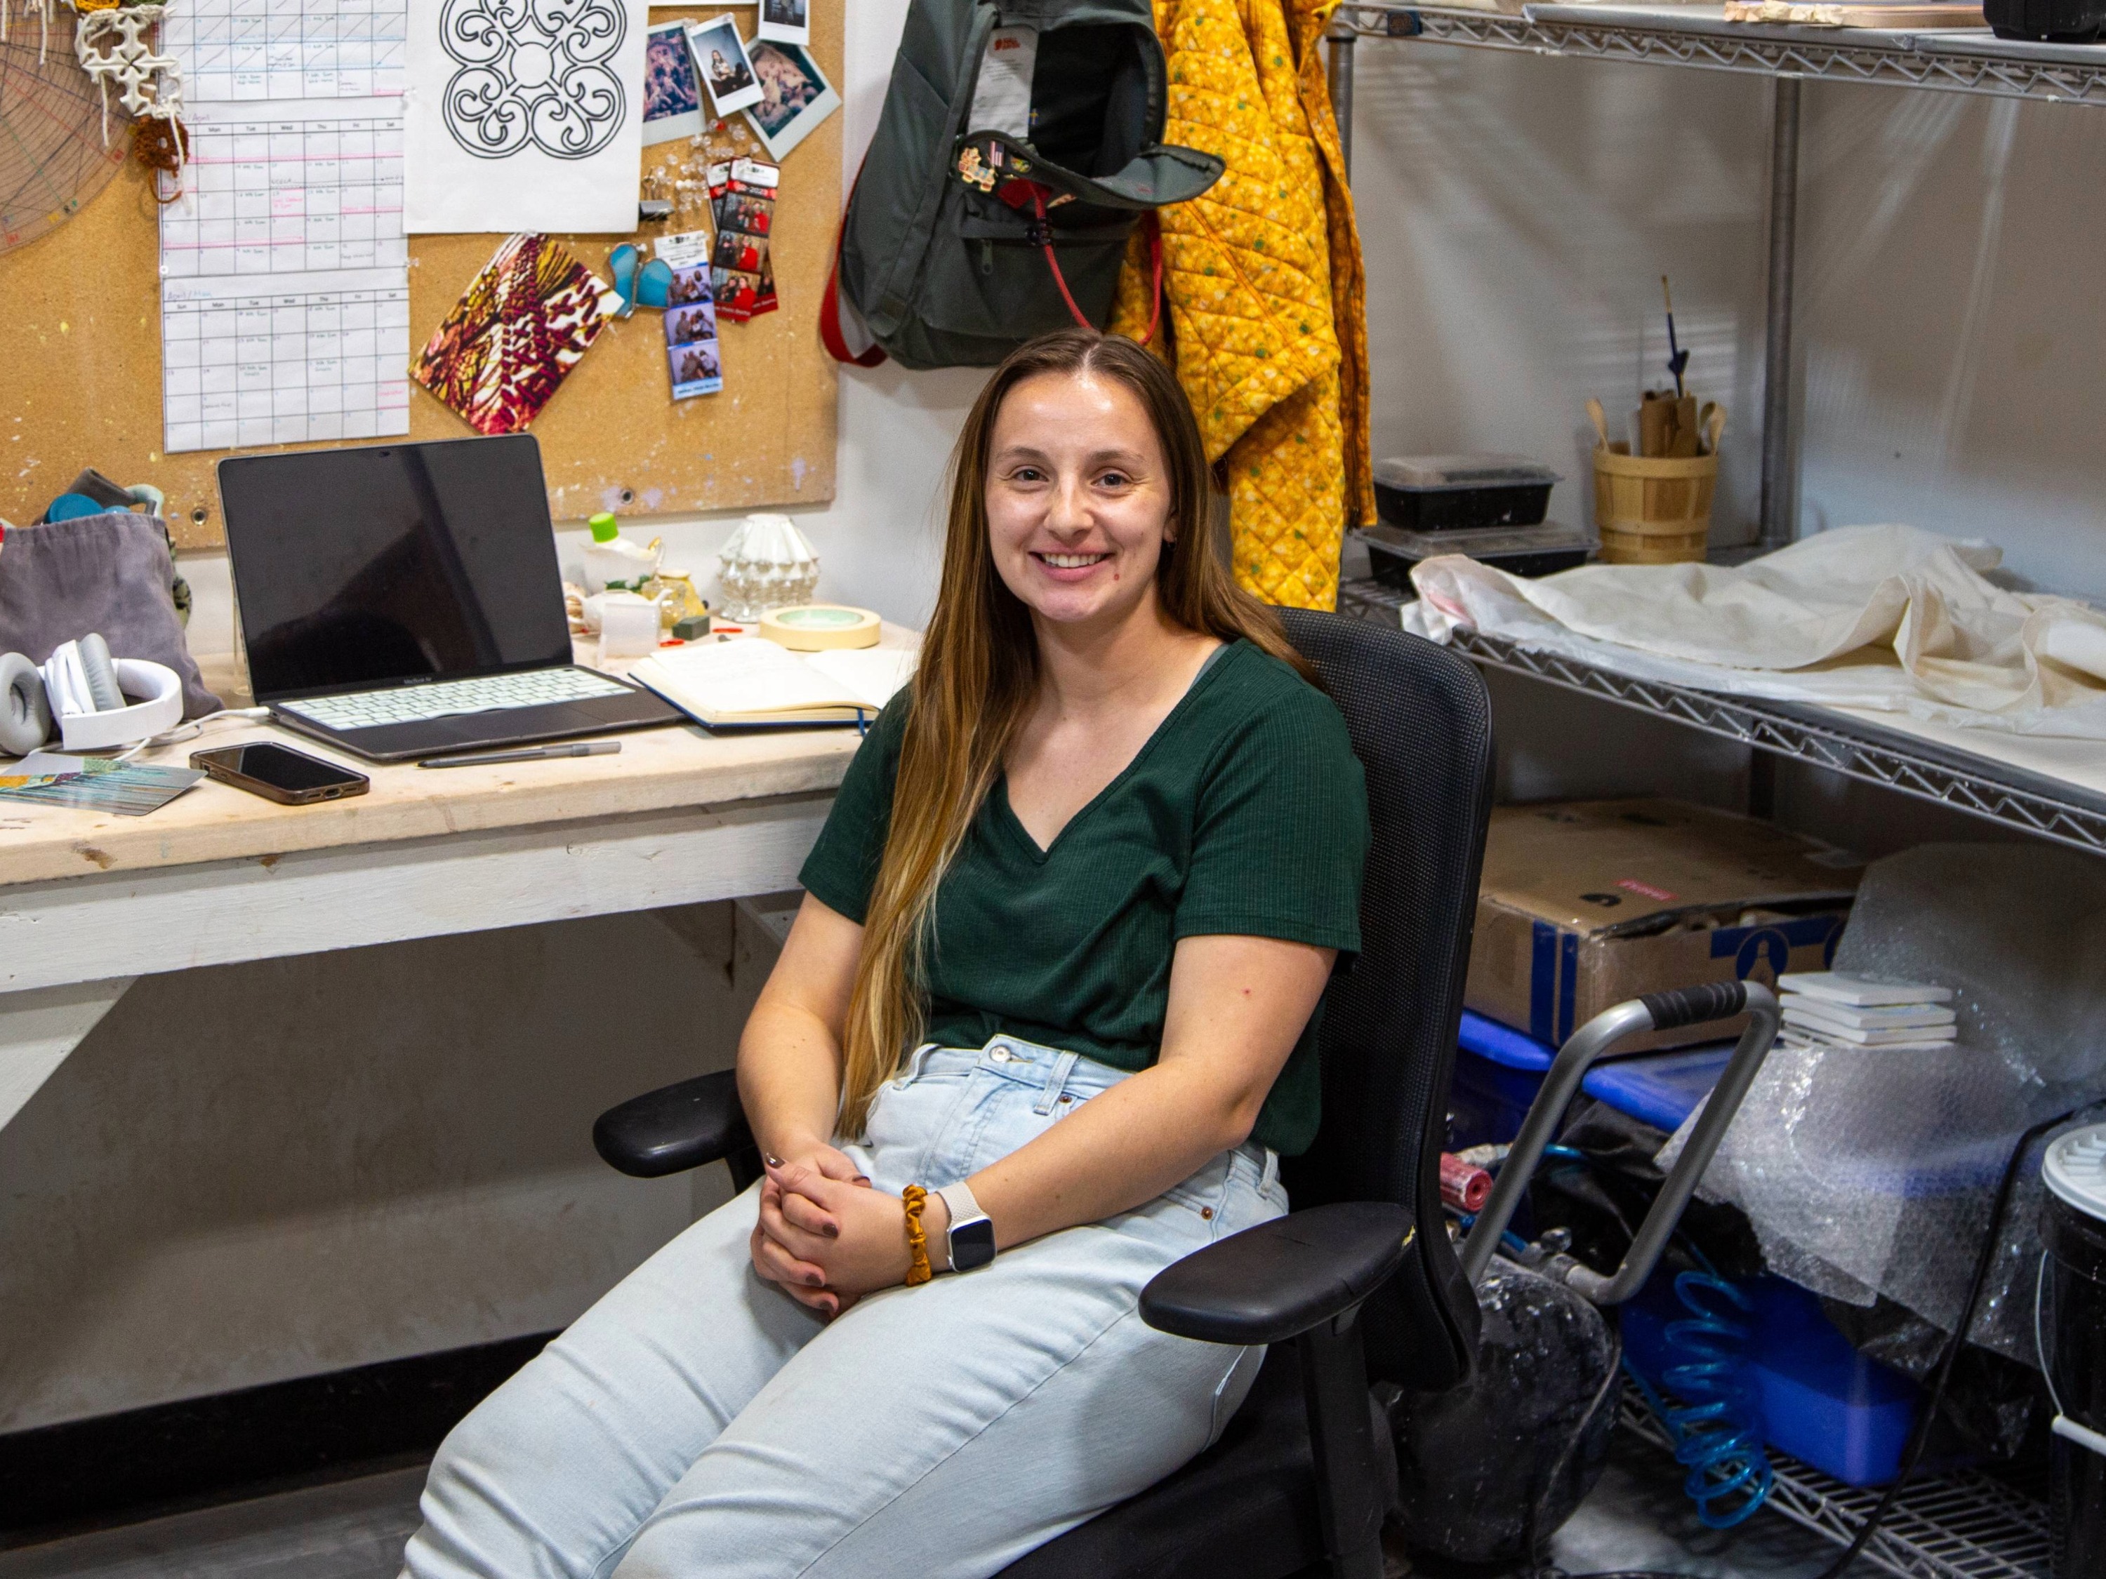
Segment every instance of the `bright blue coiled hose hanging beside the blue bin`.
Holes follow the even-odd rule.
[[[1697,1518],[1729,1531],[1763,1505],[1775,1480],[1748,1381],[1744,1318],[1754,1305],[1716,1272],[1678,1274],[1674,1297],[1689,1316],[1668,1322],[1666,1343],[1685,1358],[1666,1368],[1660,1385],[1676,1402],[1662,1398],[1628,1358],[1624,1371],[1674,1438],[1674,1457],[1689,1467],[1683,1493],[1697,1505]]]

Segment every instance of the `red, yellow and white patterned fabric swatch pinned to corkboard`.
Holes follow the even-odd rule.
[[[478,434],[516,434],[613,318],[613,286],[548,236],[512,236],[417,354],[411,377]]]

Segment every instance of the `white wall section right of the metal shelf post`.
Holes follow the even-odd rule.
[[[2106,114],[1809,84],[1803,158],[1805,526],[1980,535],[2106,596]]]

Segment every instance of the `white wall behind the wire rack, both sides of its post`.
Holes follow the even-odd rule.
[[[1689,379],[1731,423],[1712,541],[1754,533],[1769,86],[1653,65],[1358,44],[1375,453],[1512,448],[1590,509],[1584,400]],[[1803,531],[1982,535],[2022,585],[2106,594],[2106,116],[1807,82]]]

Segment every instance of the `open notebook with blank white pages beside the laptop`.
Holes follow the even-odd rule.
[[[746,636],[661,648],[630,678],[710,728],[855,724],[914,678],[916,657],[897,646],[792,653]]]

